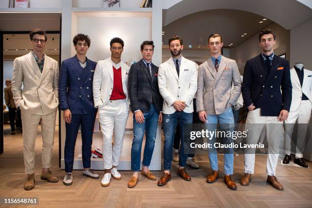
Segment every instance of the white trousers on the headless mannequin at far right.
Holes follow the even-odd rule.
[[[296,146],[295,156],[297,158],[303,157],[303,150],[305,147],[305,138],[308,128],[308,123],[311,116],[311,102],[310,100],[301,100],[300,107],[296,111],[289,113],[288,119],[285,120],[284,145],[285,153],[291,154],[291,145]],[[297,142],[292,142],[292,134],[295,123],[298,123]]]

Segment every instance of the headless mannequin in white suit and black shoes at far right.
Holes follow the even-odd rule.
[[[297,63],[290,70],[292,81],[292,104],[287,120],[285,120],[284,145],[285,157],[284,164],[289,164],[291,161],[291,143],[294,125],[297,121],[298,132],[296,142],[296,152],[294,163],[307,168],[308,165],[302,159],[305,147],[305,138],[308,128],[308,123],[311,116],[312,103],[312,71],[303,67],[302,63]]]

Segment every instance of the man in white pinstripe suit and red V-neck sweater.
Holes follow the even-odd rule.
[[[93,77],[94,106],[98,108],[103,134],[103,168],[105,174],[101,185],[110,185],[111,177],[121,179],[117,171],[122,150],[125,126],[128,118],[128,72],[129,67],[121,61],[123,40],[113,38],[110,42],[111,57],[97,63]],[[114,134],[114,145],[113,142]]]

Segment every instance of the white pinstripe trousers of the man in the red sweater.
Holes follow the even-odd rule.
[[[129,106],[126,99],[109,100],[106,106],[100,107],[99,122],[103,134],[103,168],[118,166]],[[113,142],[114,134],[114,145]]]

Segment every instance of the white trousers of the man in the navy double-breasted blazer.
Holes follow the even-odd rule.
[[[248,112],[245,131],[247,131],[247,144],[257,144],[263,128],[266,128],[268,140],[267,175],[275,175],[279,156],[279,144],[283,138],[283,123],[277,116],[261,116],[261,109]],[[245,173],[254,173],[255,149],[245,149]]]

